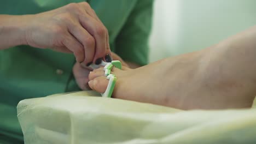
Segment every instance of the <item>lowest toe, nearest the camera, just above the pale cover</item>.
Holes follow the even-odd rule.
[[[108,86],[108,80],[104,76],[96,77],[94,80],[88,82],[91,89],[94,91],[104,93]]]

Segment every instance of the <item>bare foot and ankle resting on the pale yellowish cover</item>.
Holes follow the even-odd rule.
[[[256,94],[256,27],[207,49],[162,59],[138,69],[112,69],[113,97],[179,109],[251,107]],[[103,70],[89,75],[103,93]]]

